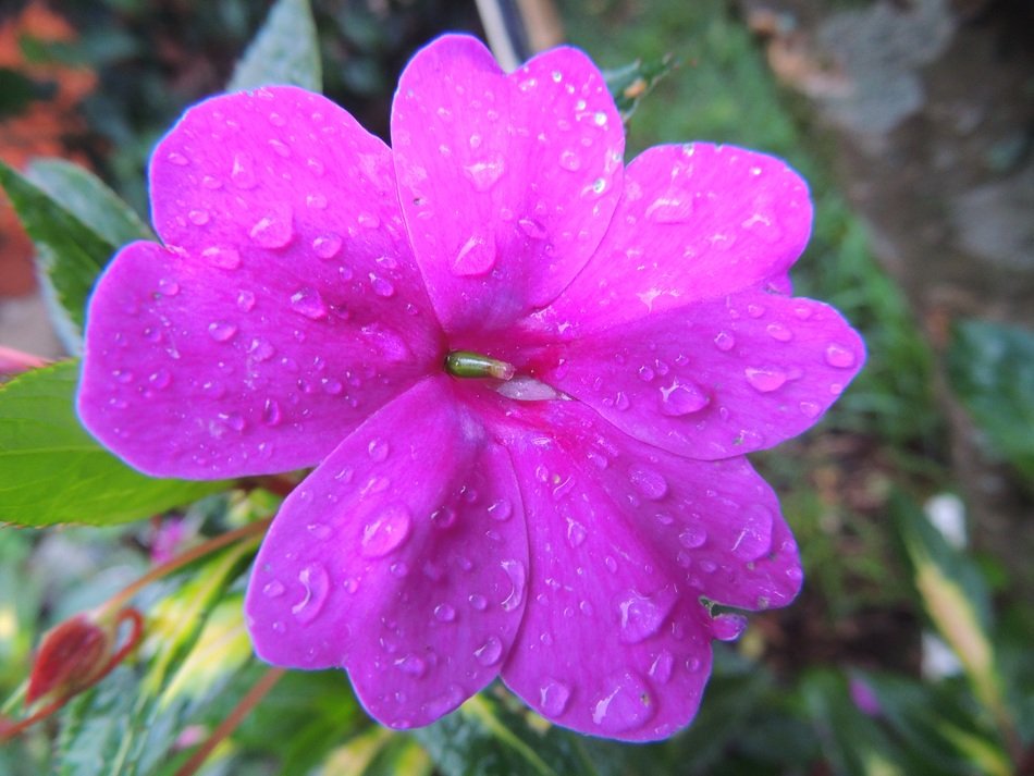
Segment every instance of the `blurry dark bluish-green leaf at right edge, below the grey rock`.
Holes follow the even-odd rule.
[[[1034,332],[965,320],[952,330],[948,379],[989,452],[1034,485]]]

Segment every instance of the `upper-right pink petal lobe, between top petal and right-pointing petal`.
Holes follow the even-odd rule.
[[[657,146],[636,158],[611,229],[546,312],[576,332],[772,280],[811,233],[808,185],[779,159],[733,146]]]

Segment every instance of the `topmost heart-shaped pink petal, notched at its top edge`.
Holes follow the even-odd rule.
[[[417,261],[451,334],[500,329],[554,298],[620,193],[620,118],[570,48],[506,76],[475,38],[438,39],[402,75],[392,140]]]

